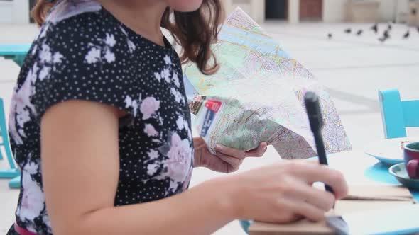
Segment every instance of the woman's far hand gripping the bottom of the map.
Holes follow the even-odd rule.
[[[212,171],[231,173],[237,171],[246,157],[259,157],[265,154],[268,144],[261,143],[257,149],[251,151],[241,151],[229,147],[217,145],[216,155],[211,154],[207,149],[204,139],[194,138],[195,161],[194,167],[206,167]]]

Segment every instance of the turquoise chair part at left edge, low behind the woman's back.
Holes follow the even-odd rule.
[[[9,143],[9,134],[7,132],[6,127],[6,115],[4,115],[4,102],[3,99],[0,98],[0,148],[4,149],[6,152],[6,159],[9,161],[9,169],[1,169],[0,170],[0,178],[15,178],[20,175],[20,171],[16,168],[16,165],[13,161],[13,155],[11,154],[11,148]],[[0,149],[0,157],[3,159]]]

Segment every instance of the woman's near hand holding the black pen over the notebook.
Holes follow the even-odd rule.
[[[288,223],[303,217],[320,221],[348,191],[342,173],[303,160],[284,160],[217,180],[218,192],[226,192],[224,200],[232,205],[232,217],[263,222]],[[313,188],[315,182],[327,183],[334,194]]]

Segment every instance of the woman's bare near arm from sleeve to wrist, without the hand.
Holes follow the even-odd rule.
[[[115,108],[87,101],[45,113],[43,185],[54,234],[210,234],[234,219],[215,181],[163,200],[114,207],[118,118]]]

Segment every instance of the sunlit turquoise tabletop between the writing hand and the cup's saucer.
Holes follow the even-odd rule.
[[[373,157],[364,154],[362,151],[347,151],[338,154],[331,154],[327,157],[329,165],[344,173],[349,185],[400,185],[396,178],[388,173],[388,166],[381,164]],[[419,201],[419,191],[410,190],[415,200]],[[252,224],[241,222],[241,225],[249,231]],[[254,225],[254,231],[257,226]],[[250,232],[250,235],[252,232]],[[274,234],[274,232],[273,232]]]

